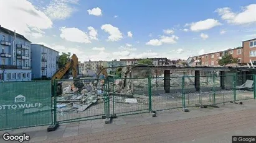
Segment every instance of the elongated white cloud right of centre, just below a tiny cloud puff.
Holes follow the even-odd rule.
[[[179,37],[173,35],[172,37],[161,36],[160,39],[149,40],[146,45],[161,46],[163,43],[174,44]]]

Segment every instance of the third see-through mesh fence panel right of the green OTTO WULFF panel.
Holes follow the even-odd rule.
[[[164,79],[168,84],[169,93],[164,89]],[[169,110],[183,107],[183,77],[151,78],[151,105],[153,111]]]

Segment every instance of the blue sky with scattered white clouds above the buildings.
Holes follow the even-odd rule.
[[[0,25],[82,62],[187,59],[256,38],[256,2],[0,0]]]

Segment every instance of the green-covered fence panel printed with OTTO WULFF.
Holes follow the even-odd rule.
[[[0,129],[51,124],[51,82],[1,82],[0,105]]]

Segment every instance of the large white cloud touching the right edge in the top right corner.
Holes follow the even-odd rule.
[[[242,7],[242,12],[232,12],[229,7],[216,9],[223,20],[229,24],[252,24],[256,22],[256,4]]]

